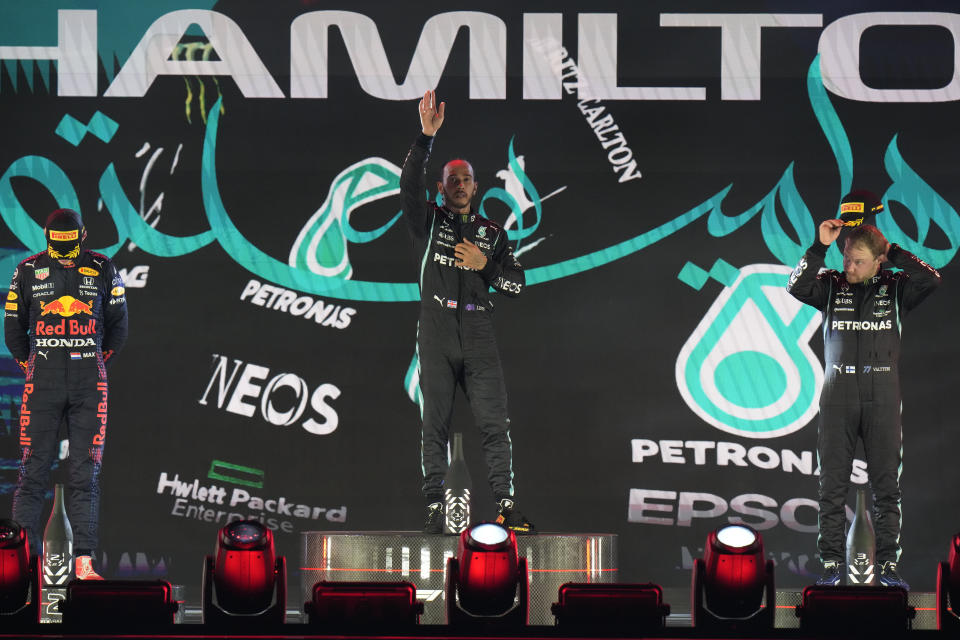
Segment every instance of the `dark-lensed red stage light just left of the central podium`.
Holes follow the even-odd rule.
[[[204,622],[282,623],[286,595],[286,562],[275,557],[270,530],[258,520],[220,529],[215,557],[204,560]]]

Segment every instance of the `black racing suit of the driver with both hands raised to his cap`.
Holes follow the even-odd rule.
[[[890,245],[887,257],[903,271],[880,270],[861,284],[823,267],[827,246],[814,243],[790,276],[787,291],[823,312],[824,382],[820,394],[820,534],[824,562],[844,561],[844,505],[857,437],[863,439],[873,489],[877,562],[900,557],[901,321],[938,284],[940,274]]]

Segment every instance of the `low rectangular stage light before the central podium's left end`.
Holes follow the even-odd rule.
[[[350,631],[411,627],[423,613],[416,585],[406,581],[318,582],[303,608],[310,624]]]

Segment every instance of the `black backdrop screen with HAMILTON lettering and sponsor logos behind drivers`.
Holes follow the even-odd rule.
[[[475,52],[461,30],[448,59],[438,41],[424,45],[423,59],[443,69],[436,90],[447,102],[429,176],[466,157],[487,215],[523,220],[524,231],[510,228],[522,236],[529,286],[500,301],[496,316],[524,512],[544,531],[615,532],[620,579],[672,586],[686,584],[708,531],[742,519],[762,530],[779,583],[806,584],[819,567],[813,451],[822,340],[818,318],[782,286],[843,193],[867,188],[886,200],[877,224],[887,237],[944,277],[906,319],[901,362],[903,573],[914,588],[933,588],[935,563],[960,527],[949,489],[960,352],[960,14],[951,3],[354,3],[349,11],[375,24],[393,78],[366,74],[367,86],[382,88],[371,95],[354,65],[364,59],[370,68],[377,43],[358,40],[354,61],[331,28],[322,98],[293,96],[291,59],[319,56],[291,53],[291,24],[343,7],[6,4],[0,47],[57,46],[58,10],[97,12],[96,95],[59,95],[64,80],[48,61],[0,66],[0,260],[9,276],[42,249],[35,225],[69,205],[84,215],[89,247],[125,270],[131,334],[110,370],[103,474],[99,554],[108,574],[196,586],[199,559],[230,513],[266,518],[292,566],[301,531],[422,524],[419,414],[407,379],[419,257],[402,220],[393,222],[399,165],[419,122],[415,99],[382,95],[406,78],[428,19],[473,11],[482,12],[477,24],[502,24],[503,95],[471,92],[474,58],[493,78],[484,86],[496,86],[495,28],[471,30]],[[172,72],[142,96],[107,95],[150,25],[182,9],[232,19],[282,96],[245,96],[229,74]],[[616,18],[618,60],[604,71],[620,87],[701,87],[702,99],[664,90],[666,99],[578,103],[572,84],[558,99],[525,98],[524,19],[546,13],[562,23],[565,82],[583,75],[570,74],[587,49],[613,59],[609,33],[578,37],[578,24],[603,14]],[[753,49],[759,78],[741,78],[759,87],[752,99],[722,89],[722,75],[742,76],[750,56],[721,55],[720,28],[660,26],[667,14],[801,13],[819,26],[762,28]],[[858,19],[878,25],[859,43]],[[455,32],[456,20],[437,20],[440,33]],[[314,43],[325,32],[306,31]],[[750,29],[730,33],[742,44]],[[176,55],[202,57],[208,36],[215,41],[192,27]],[[220,37],[226,44],[214,45],[210,60],[257,76],[243,43]],[[555,54],[556,45],[537,43]],[[821,62],[855,52],[862,81],[848,84],[882,93],[824,88]],[[154,58],[173,69],[166,54]],[[420,94],[433,88],[413,76]],[[86,124],[97,113],[93,122],[117,127],[106,140],[87,133],[74,145],[55,132],[65,116]],[[135,218],[163,235],[138,230]],[[291,263],[301,230],[303,253]],[[374,231],[382,234],[371,238]],[[325,273],[311,270],[311,252]],[[289,306],[271,308],[283,300]],[[712,351],[726,360],[711,360]],[[16,482],[22,389],[9,354],[3,363],[0,512]],[[713,391],[698,395],[701,383]],[[723,417],[718,402],[741,417]],[[492,517],[462,398],[455,428],[465,434],[479,515]],[[221,488],[224,504],[215,504],[217,491],[199,499],[188,487],[195,480],[197,489]],[[280,513],[272,512],[279,499]]]

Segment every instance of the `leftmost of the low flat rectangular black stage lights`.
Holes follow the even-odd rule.
[[[60,602],[63,624],[92,630],[172,625],[178,604],[166,580],[72,580]]]

